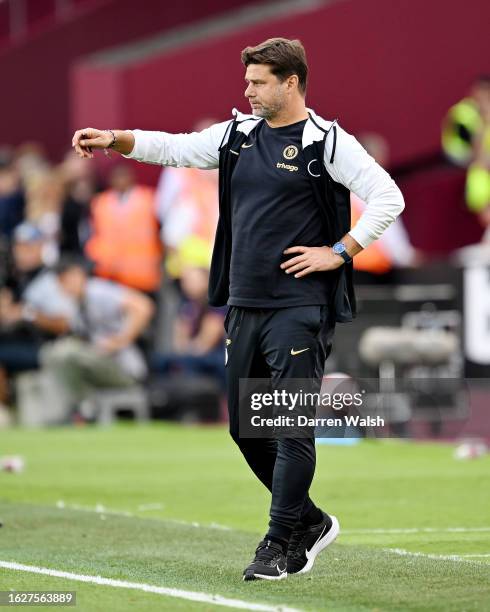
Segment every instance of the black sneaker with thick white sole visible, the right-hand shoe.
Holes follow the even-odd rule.
[[[318,525],[304,527],[298,523],[289,540],[287,571],[289,574],[306,574],[315,563],[317,555],[339,535],[339,522],[335,516],[323,512]]]

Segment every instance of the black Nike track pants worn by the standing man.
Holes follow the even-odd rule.
[[[315,472],[315,441],[313,437],[240,438],[239,379],[270,378],[273,387],[284,378],[321,380],[333,336],[327,307],[232,306],[225,329],[230,433],[272,493],[269,534],[289,539],[296,522],[314,507],[308,490]]]

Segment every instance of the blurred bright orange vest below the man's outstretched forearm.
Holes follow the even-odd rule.
[[[95,273],[141,291],[158,289],[162,244],[153,189],[135,186],[124,198],[104,191],[92,200],[91,214],[85,252]]]

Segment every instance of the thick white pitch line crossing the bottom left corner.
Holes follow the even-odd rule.
[[[31,574],[43,574],[45,576],[53,576],[54,578],[76,580],[77,582],[88,582],[90,584],[97,584],[99,586],[110,586],[120,589],[145,591],[146,593],[156,593],[157,595],[176,597],[178,599],[187,599],[188,601],[199,601],[214,604],[216,606],[225,606],[227,608],[238,608],[241,610],[257,610],[258,612],[300,612],[300,610],[297,610],[295,608],[287,608],[286,606],[272,606],[268,604],[243,601],[241,599],[228,599],[226,597],[222,597],[221,595],[210,595],[209,593],[200,593],[197,591],[183,591],[182,589],[159,587],[141,582],[114,580],[112,578],[103,578],[102,576],[86,576],[84,574],[72,574],[71,572],[62,572],[60,570],[54,570],[48,567],[23,565],[22,563],[15,563],[14,561],[0,561],[0,567],[20,572],[29,572]]]

